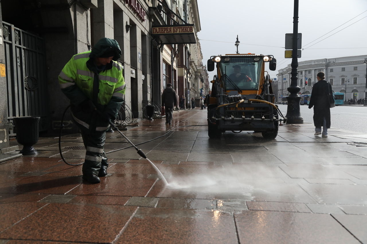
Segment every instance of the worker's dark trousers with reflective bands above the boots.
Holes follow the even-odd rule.
[[[107,157],[103,149],[106,141],[106,132],[98,132],[95,130],[90,132],[86,127],[78,123],[77,125],[81,131],[84,146],[86,147],[86,157],[82,169],[83,174],[93,173],[98,175],[101,167],[105,169],[108,167]]]

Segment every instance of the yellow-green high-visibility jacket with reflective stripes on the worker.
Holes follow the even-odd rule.
[[[97,70],[91,70],[91,51],[74,55],[59,74],[59,85],[62,92],[74,106],[79,106],[84,100],[92,100],[93,81]],[[88,65],[87,65],[88,63]],[[125,81],[122,66],[117,61],[111,61],[107,69],[98,73],[99,93],[95,106],[100,112],[107,112],[116,118],[125,96]]]

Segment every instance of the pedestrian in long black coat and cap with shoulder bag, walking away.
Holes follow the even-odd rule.
[[[308,108],[313,107],[313,123],[315,125],[315,136],[321,134],[327,137],[327,129],[330,128],[330,103],[327,95],[332,92],[331,85],[325,81],[325,73],[317,73],[318,82],[313,86]]]

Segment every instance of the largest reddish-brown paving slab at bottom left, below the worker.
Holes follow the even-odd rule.
[[[50,203],[2,232],[0,238],[110,243],[135,210],[131,206]]]

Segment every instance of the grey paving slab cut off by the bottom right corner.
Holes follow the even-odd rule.
[[[333,217],[358,240],[362,243],[367,243],[367,215],[333,214]]]

